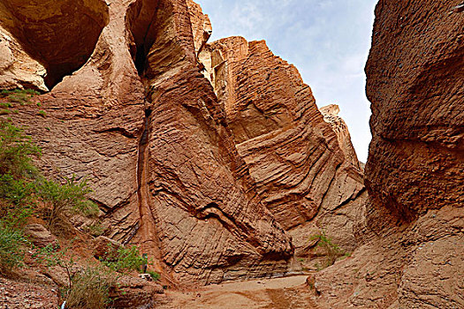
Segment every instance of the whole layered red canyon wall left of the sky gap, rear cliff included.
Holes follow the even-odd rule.
[[[293,255],[322,232],[347,252],[364,242],[367,191],[338,107],[317,109],[264,41],[208,44],[190,0],[49,5],[0,5],[2,87],[45,92],[4,117],[42,147],[48,177],[89,178],[106,236],[174,285],[300,271]]]

